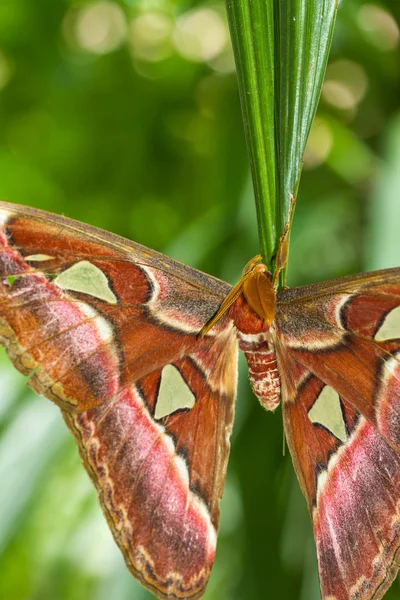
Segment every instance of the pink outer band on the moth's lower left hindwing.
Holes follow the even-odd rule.
[[[146,585],[189,596],[208,578],[215,528],[190,490],[173,439],[152,419],[136,386],[106,408],[64,417],[80,441],[127,562]],[[153,528],[157,535],[151,535]]]

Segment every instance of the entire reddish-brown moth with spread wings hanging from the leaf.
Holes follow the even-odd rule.
[[[0,203],[0,341],[58,404],[126,564],[200,598],[214,561],[238,347],[282,402],[323,600],[378,600],[400,561],[400,269],[231,288],[89,225]],[[285,244],[277,257],[285,262]]]

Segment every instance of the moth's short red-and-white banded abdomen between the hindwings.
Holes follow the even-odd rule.
[[[247,359],[253,392],[264,408],[275,410],[281,399],[278,366],[273,346],[267,341],[260,341],[262,337],[262,334],[247,335],[246,339],[243,339],[239,334],[239,347]]]

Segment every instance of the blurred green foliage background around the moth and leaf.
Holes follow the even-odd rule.
[[[400,2],[343,0],[305,156],[289,283],[400,264]],[[222,2],[1,0],[0,197],[231,283],[258,253]],[[0,597],[145,600],[58,409],[1,354]],[[317,600],[278,410],[243,362],[207,600]],[[306,440],[305,440],[306,443]],[[395,583],[387,598],[399,598]]]

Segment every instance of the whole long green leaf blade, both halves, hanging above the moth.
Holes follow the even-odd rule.
[[[267,264],[297,195],[336,10],[337,0],[227,0]]]

